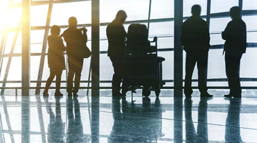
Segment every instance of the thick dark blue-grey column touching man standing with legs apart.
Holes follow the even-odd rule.
[[[180,42],[183,1],[174,1],[174,96],[183,95],[183,48]]]

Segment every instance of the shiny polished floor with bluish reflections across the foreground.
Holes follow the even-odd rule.
[[[0,142],[257,142],[257,98],[0,98]]]

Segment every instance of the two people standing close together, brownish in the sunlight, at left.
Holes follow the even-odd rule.
[[[78,96],[78,90],[80,88],[80,77],[83,67],[83,61],[85,55],[85,47],[87,44],[87,29],[77,28],[78,21],[76,17],[69,18],[69,28],[60,35],[60,27],[53,26],[51,28],[51,35],[48,37],[48,66],[50,68],[50,77],[46,82],[46,88],[43,95],[48,96],[48,88],[53,82],[53,78],[56,75],[56,96],[62,96],[60,93],[60,83],[62,70],[65,69],[64,50],[67,50],[68,56],[68,79],[67,79],[67,93],[68,96]],[[59,36],[60,35],[60,36]],[[67,47],[65,48],[62,37],[66,41]],[[73,78],[74,86],[73,86]]]

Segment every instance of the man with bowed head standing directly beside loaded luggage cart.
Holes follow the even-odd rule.
[[[126,12],[119,10],[114,21],[109,23],[106,29],[108,39],[108,56],[112,61],[112,66],[114,67],[114,75],[112,77],[113,96],[122,96],[127,92],[124,81],[122,93],[120,92],[121,82],[123,80],[125,38],[127,37],[127,32],[125,31],[123,23],[126,18]]]

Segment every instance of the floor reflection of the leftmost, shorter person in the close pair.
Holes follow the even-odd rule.
[[[50,122],[48,124],[47,142],[64,142],[64,127],[62,122],[62,113],[60,108],[60,97],[55,97],[55,114],[51,108],[51,104],[48,102],[48,97],[44,97],[46,104],[46,111],[50,116]]]

